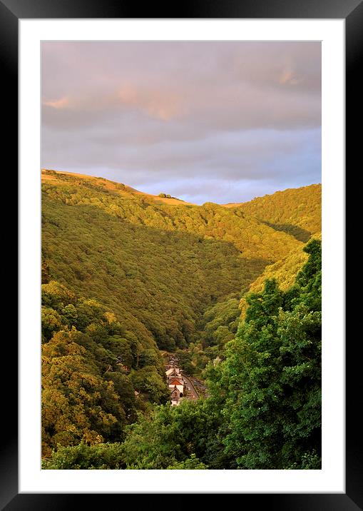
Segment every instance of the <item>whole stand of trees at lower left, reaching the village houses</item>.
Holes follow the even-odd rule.
[[[160,353],[155,345],[143,348],[95,299],[76,298],[53,280],[42,285],[42,298],[44,455],[56,445],[122,438],[125,425],[144,408],[132,383],[140,365],[149,364],[139,377],[147,373],[148,385],[140,389],[145,397],[160,403],[168,395]]]

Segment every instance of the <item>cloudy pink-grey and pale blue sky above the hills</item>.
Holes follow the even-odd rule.
[[[321,182],[321,45],[44,41],[41,166],[192,203]]]

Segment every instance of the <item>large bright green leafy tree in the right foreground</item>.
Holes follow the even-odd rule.
[[[297,277],[295,293],[283,293],[274,280],[267,280],[262,293],[248,296],[245,322],[227,344],[220,373],[210,374],[225,389],[225,452],[235,455],[241,468],[304,468],[308,459],[316,466],[320,456],[319,241],[306,250],[310,258]],[[212,399],[220,402],[218,385],[211,389]]]

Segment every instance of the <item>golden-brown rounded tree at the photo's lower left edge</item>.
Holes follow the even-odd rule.
[[[42,440],[74,445],[115,440],[126,423],[113,383],[101,378],[96,360],[79,343],[74,328],[59,331],[42,350]]]

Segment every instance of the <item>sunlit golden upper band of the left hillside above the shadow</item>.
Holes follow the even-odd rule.
[[[45,196],[56,202],[70,206],[95,206],[128,223],[161,231],[186,231],[203,239],[227,241],[245,258],[262,258],[272,263],[297,244],[291,236],[276,233],[264,222],[215,203],[203,206],[158,204],[154,201],[155,196],[128,192],[128,187],[123,184],[118,184],[121,188],[117,190],[113,188],[117,183],[111,183],[110,188],[110,182],[106,180],[101,180],[101,186],[100,178],[80,178],[61,173],[58,176],[56,172],[52,172],[51,176],[51,181],[44,181],[43,191]]]

